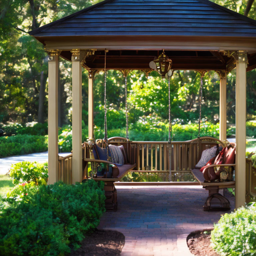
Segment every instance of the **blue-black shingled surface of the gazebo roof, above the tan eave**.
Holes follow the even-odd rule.
[[[208,0],[105,0],[29,34],[256,37],[256,21]]]

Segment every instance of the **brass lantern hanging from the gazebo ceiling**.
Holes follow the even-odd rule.
[[[172,60],[168,59],[163,49],[163,52],[157,59],[151,61],[149,66],[155,69],[164,78],[165,74],[172,68]]]

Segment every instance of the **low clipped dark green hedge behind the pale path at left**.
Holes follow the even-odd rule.
[[[15,135],[0,137],[0,157],[44,152],[48,149],[48,136]]]

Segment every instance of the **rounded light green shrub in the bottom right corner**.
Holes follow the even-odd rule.
[[[223,215],[211,233],[212,247],[221,256],[256,255],[256,205]]]

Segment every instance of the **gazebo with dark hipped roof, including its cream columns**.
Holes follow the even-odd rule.
[[[174,70],[220,76],[220,140],[226,140],[226,75],[236,68],[236,208],[246,201],[246,71],[256,67],[256,21],[208,0],[105,0],[29,33],[49,55],[49,183],[59,179],[58,62],[72,61],[72,183],[82,180],[82,67],[89,72],[89,138],[93,79],[104,69],[150,71],[162,49]],[[162,152],[162,151],[161,151]]]

